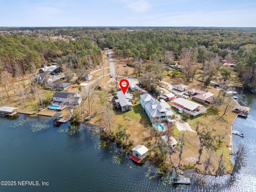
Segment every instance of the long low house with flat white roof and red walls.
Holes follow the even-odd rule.
[[[194,118],[201,116],[206,111],[202,105],[183,98],[174,99],[173,107],[179,109],[180,113],[188,113]]]

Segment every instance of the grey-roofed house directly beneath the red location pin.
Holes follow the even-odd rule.
[[[132,95],[128,92],[117,91],[117,99],[115,99],[117,109],[122,111],[131,110],[132,108]]]

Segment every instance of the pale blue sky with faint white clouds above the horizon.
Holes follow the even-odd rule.
[[[0,0],[0,26],[256,27],[256,0]]]

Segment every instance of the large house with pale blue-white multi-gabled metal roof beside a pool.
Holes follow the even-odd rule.
[[[150,94],[140,95],[140,105],[153,124],[169,121],[174,115],[171,106],[167,102],[163,99],[157,101]]]

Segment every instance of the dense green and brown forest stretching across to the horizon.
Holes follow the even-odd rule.
[[[64,39],[53,41],[51,37]],[[117,57],[127,58],[137,71],[141,63],[147,73],[158,73],[159,63],[179,62],[188,80],[201,69],[206,83],[217,71],[228,79],[231,69],[221,67],[226,60],[235,63],[232,70],[244,87],[256,84],[256,31],[253,29],[12,29],[0,35],[0,70],[17,76],[32,73],[51,62],[71,69],[91,68],[102,61],[104,47],[113,49]]]

